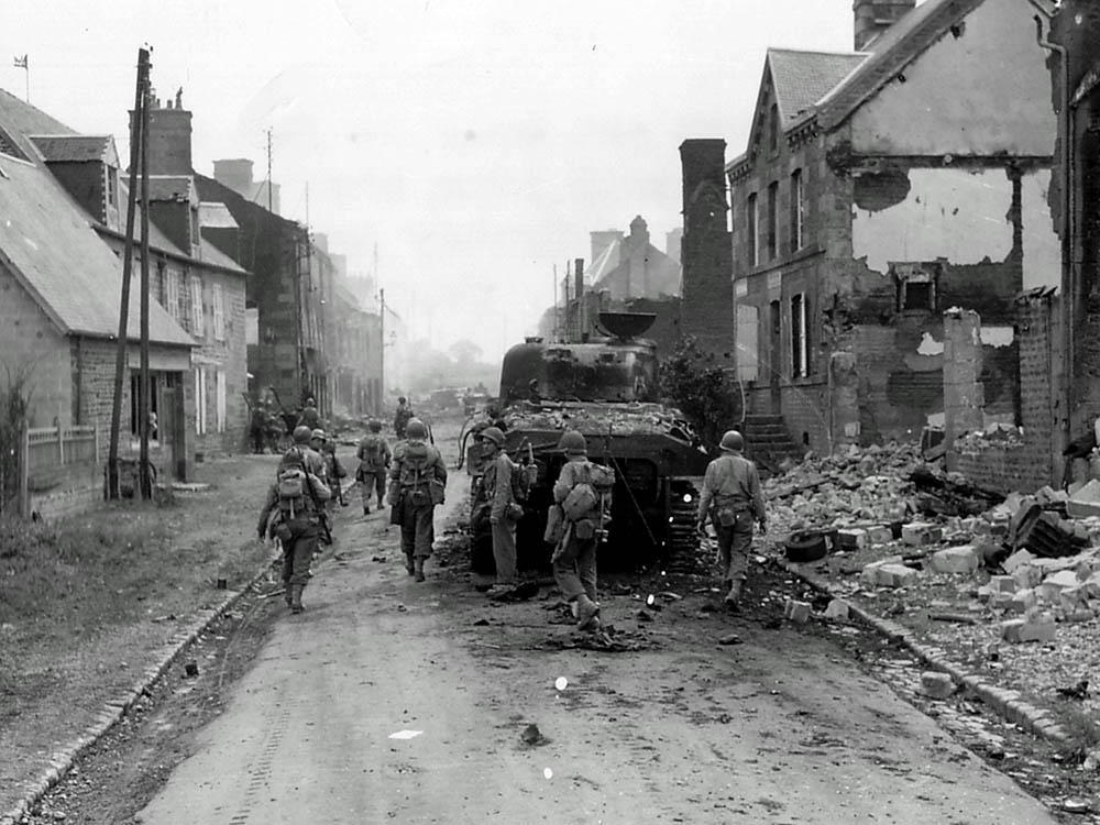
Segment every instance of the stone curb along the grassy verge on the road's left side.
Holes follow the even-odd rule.
[[[218,618],[232,609],[253,587],[255,587],[268,573],[271,562],[256,573],[240,591],[227,591],[221,604],[205,610],[199,610],[195,615],[195,623],[188,629],[180,630],[161,648],[158,664],[145,668],[141,680],[129,691],[112,700],[108,700],[100,712],[99,717],[84,733],[66,747],[55,751],[50,757],[50,768],[35,780],[30,791],[23,799],[15,803],[10,811],[0,814],[0,825],[19,825],[31,809],[36,805],[50,790],[56,785],[73,768],[73,763],[92,745],[98,743],[130,708],[134,706],[141,697],[150,692],[150,689],[161,676],[167,672],[179,654],[187,649],[210,625]]]

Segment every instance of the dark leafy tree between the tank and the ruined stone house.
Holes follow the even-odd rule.
[[[741,396],[726,367],[703,352],[692,336],[660,363],[661,395],[680,408],[708,450],[741,418]]]

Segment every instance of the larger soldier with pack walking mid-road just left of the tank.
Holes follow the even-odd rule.
[[[405,436],[407,440],[394,448],[389,469],[391,521],[402,526],[405,569],[422,582],[424,563],[431,556],[435,539],[436,506],[443,503],[447,488],[447,464],[436,446],[427,443],[424,421],[410,419]]]

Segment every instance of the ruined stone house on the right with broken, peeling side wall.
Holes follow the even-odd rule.
[[[750,411],[826,452],[916,438],[945,410],[957,308],[980,317],[982,421],[1021,422],[1015,299],[1059,272],[1050,11],[856,0],[853,53],[769,50],[726,166]]]

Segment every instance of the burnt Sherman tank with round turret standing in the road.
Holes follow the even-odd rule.
[[[549,565],[542,536],[551,488],[564,455],[565,430],[587,439],[590,460],[615,470],[612,520],[600,549],[602,570],[635,570],[697,547],[697,491],[707,454],[681,413],[658,396],[656,344],[640,336],[654,316],[602,312],[601,337],[576,343],[527,339],[508,350],[493,422],[513,460],[537,468],[517,527],[521,569]],[[463,452],[477,487],[480,448],[464,435]],[[486,558],[487,553],[487,558]],[[492,569],[492,541],[475,536],[474,566]]]

